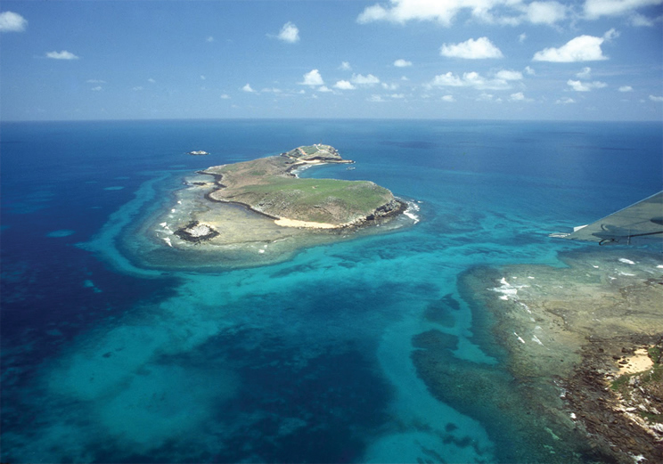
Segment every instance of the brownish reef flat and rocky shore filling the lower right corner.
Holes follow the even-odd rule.
[[[477,267],[460,278],[475,338],[508,374],[460,362],[428,334],[413,340],[420,376],[492,424],[502,461],[663,462],[661,257],[597,247],[561,259],[569,267]],[[513,435],[528,443],[510,444]]]

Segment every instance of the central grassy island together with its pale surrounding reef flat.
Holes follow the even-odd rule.
[[[148,265],[264,265],[300,248],[416,222],[401,214],[416,206],[375,183],[297,175],[306,167],[352,162],[329,145],[312,145],[208,167],[185,177],[184,188],[139,228],[148,243],[127,247]]]

